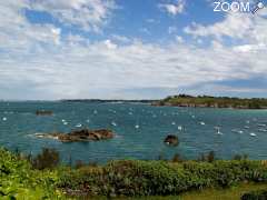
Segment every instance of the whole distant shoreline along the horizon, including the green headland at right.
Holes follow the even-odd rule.
[[[145,103],[152,107],[267,109],[267,98],[233,98],[211,96],[169,96],[165,99],[61,99],[61,100],[0,100],[0,102],[81,102],[81,103]]]

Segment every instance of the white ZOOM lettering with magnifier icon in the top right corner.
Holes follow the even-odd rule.
[[[255,14],[258,10],[263,8],[265,8],[265,4],[261,1],[256,4],[250,2],[239,2],[239,1],[214,2],[215,12],[251,12]]]

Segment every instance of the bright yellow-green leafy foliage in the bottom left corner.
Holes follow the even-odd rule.
[[[30,163],[0,149],[0,199],[61,199],[56,171],[32,170]]]

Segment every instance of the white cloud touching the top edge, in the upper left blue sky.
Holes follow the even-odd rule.
[[[59,21],[100,31],[116,8],[113,0],[28,0],[30,9],[46,11]]]

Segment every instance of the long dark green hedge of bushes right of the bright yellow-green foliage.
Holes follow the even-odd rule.
[[[267,181],[260,161],[217,160],[115,161],[103,167],[82,167],[62,171],[58,187],[66,191],[102,196],[167,196],[241,181]]]

